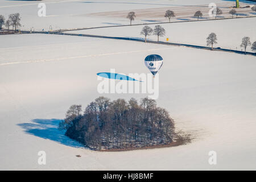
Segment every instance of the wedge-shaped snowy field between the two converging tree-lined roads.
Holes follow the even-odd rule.
[[[183,22],[183,23],[171,23],[160,24],[166,30],[166,35],[159,37],[160,41],[166,41],[172,43],[184,43],[194,44],[198,46],[207,46],[206,38],[211,32],[215,32],[217,35],[217,42],[215,47],[222,47],[228,49],[234,49],[240,51],[242,48],[240,44],[244,36],[249,36],[251,43],[256,41],[256,26],[255,18],[243,18],[243,19],[225,19],[225,20],[213,20],[204,22]],[[89,30],[68,31],[77,34],[93,34],[93,35],[106,35],[106,36],[121,36],[142,38],[141,30],[143,26],[128,26],[128,27],[111,27],[111,28],[97,28]],[[155,24],[150,26],[155,27]],[[234,28],[237,27],[237,28]],[[148,36],[151,40],[157,40],[157,36]],[[250,46],[247,51],[251,51]]]

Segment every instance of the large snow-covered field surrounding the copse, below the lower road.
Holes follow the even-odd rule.
[[[0,46],[0,169],[255,169],[254,56],[78,36],[0,39],[5,43]],[[70,105],[84,108],[100,96],[96,73],[111,68],[148,73],[143,60],[151,53],[164,58],[159,106],[196,140],[171,148],[96,152],[57,131]],[[104,96],[128,100],[146,95]],[[37,163],[42,150],[45,166]],[[208,164],[212,150],[216,166]]]

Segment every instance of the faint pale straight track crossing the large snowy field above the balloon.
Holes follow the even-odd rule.
[[[148,52],[148,51],[159,51],[165,49],[175,49],[177,47],[170,47],[170,48],[158,48],[158,49],[145,49],[145,50],[138,50],[138,51],[123,51],[123,52],[112,52],[112,53],[101,53],[98,55],[84,55],[84,56],[72,56],[72,57],[59,57],[54,59],[40,59],[40,60],[27,60],[27,61],[14,61],[10,63],[1,63],[0,66],[12,65],[12,64],[25,64],[25,63],[41,63],[41,62],[48,62],[48,61],[61,61],[67,59],[80,59],[86,57],[97,57],[97,56],[109,56],[109,55],[120,55],[123,53],[137,53],[137,52]]]

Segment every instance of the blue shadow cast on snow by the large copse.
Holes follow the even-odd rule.
[[[33,119],[31,123],[19,123],[25,133],[36,137],[53,140],[70,147],[83,147],[79,142],[65,136],[64,131],[58,129],[61,119]]]

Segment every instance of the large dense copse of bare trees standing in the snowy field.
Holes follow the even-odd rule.
[[[149,98],[126,102],[98,97],[83,114],[80,105],[73,105],[59,128],[93,150],[170,144],[176,138],[174,120],[168,111]]]

